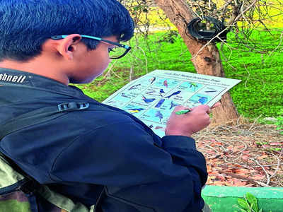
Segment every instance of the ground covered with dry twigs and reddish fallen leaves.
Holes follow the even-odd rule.
[[[194,134],[207,158],[207,184],[283,187],[283,135],[275,124],[240,118]]]

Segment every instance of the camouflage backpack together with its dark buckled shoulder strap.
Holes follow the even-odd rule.
[[[0,141],[4,136],[26,126],[40,124],[74,110],[86,110],[88,102],[67,102],[44,107],[11,119],[0,128]],[[101,196],[101,195],[100,195]],[[44,208],[44,209],[43,209]],[[67,196],[50,190],[25,174],[16,163],[0,152],[0,211],[1,212],[94,212],[74,203]]]

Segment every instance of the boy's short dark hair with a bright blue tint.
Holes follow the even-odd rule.
[[[3,0],[0,3],[0,60],[28,61],[53,35],[115,35],[129,40],[134,23],[117,0]],[[88,49],[98,41],[83,38]]]

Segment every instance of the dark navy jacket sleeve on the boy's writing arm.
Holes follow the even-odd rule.
[[[96,127],[58,155],[51,176],[105,185],[103,211],[201,211],[207,170],[195,141],[156,138],[128,120]]]

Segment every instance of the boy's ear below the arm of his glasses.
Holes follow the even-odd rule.
[[[62,57],[70,60],[74,57],[74,52],[76,51],[77,45],[81,41],[81,35],[71,34],[62,40],[58,40],[57,51]]]

